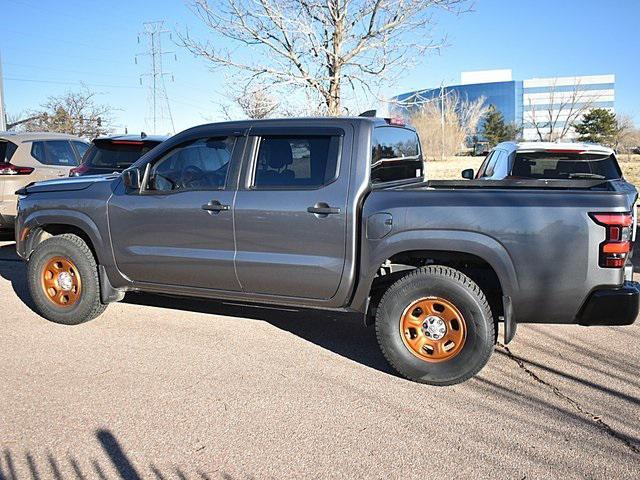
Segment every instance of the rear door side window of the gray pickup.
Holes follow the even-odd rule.
[[[260,140],[255,188],[318,188],[336,178],[340,137],[265,136]]]

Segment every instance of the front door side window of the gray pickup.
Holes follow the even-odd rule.
[[[224,188],[234,138],[201,138],[165,154],[152,168],[149,190]]]

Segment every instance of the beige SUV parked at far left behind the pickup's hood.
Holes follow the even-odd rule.
[[[88,142],[72,135],[0,132],[0,230],[13,230],[16,190],[67,177],[88,148]]]

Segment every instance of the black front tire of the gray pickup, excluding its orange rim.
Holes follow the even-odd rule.
[[[43,270],[47,262],[54,257],[65,257],[77,268],[82,289],[73,305],[57,305],[47,296],[43,288],[41,282]],[[100,301],[100,281],[96,260],[84,240],[77,235],[65,233],[40,243],[29,257],[27,281],[36,311],[52,322],[78,325],[93,320],[107,308]]]

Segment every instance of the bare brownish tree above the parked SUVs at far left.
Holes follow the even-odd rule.
[[[113,109],[95,101],[95,92],[86,88],[50,97],[41,108],[29,112],[23,123],[26,131],[69,133],[94,138],[111,131]]]

